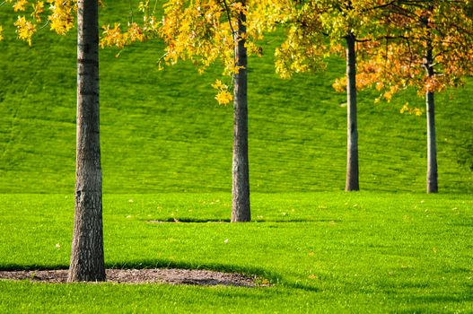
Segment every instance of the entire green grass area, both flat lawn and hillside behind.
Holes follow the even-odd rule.
[[[108,1],[103,23],[127,22]],[[15,39],[0,8],[0,269],[66,268],[74,215],[75,38]],[[425,195],[425,115],[359,94],[360,193],[345,193],[346,100],[328,71],[280,80],[250,58],[253,222],[231,212],[232,107],[215,66],[158,71],[159,42],[101,50],[109,267],[242,272],[274,287],[0,281],[0,312],[471,312],[473,81],[438,95],[439,195]],[[153,223],[150,221],[180,222]]]

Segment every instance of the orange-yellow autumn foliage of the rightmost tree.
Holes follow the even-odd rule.
[[[385,34],[372,44],[360,66],[385,99],[409,86],[422,95],[442,92],[473,74],[471,2],[395,1],[387,6],[380,24]]]

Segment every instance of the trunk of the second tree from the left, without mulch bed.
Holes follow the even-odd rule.
[[[242,34],[246,33],[246,16],[240,14],[235,39],[235,59],[242,66],[234,74],[233,90],[233,159],[232,222],[250,222],[250,175],[248,161],[247,49]]]

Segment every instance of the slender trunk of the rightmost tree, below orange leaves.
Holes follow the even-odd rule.
[[[427,56],[425,68],[429,78],[434,76],[434,58],[432,46],[427,45]],[[437,145],[435,136],[435,103],[434,92],[427,90],[425,93],[427,106],[427,193],[437,193],[438,170],[437,170]]]

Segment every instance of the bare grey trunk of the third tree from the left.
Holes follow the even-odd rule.
[[[358,179],[358,125],[356,121],[356,51],[355,35],[346,36],[346,191],[360,189]]]

